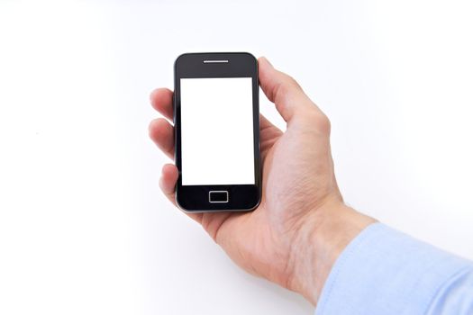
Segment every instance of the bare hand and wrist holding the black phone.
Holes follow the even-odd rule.
[[[259,83],[287,122],[282,132],[260,115],[262,199],[251,212],[192,213],[246,271],[296,291],[314,305],[332,265],[350,240],[374,222],[347,207],[333,172],[330,121],[296,81],[259,58]],[[172,121],[172,92],[151,94],[153,107]],[[150,123],[150,138],[174,157],[173,126]],[[159,185],[175,202],[177,167],[162,168]]]

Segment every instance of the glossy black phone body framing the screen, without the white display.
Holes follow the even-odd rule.
[[[184,211],[251,211],[261,199],[261,169],[259,158],[259,81],[258,62],[249,53],[188,53],[179,56],[174,65],[174,124],[175,158],[179,176],[176,201]],[[252,146],[254,184],[191,184],[183,185],[181,150],[181,79],[183,78],[251,78]],[[224,106],[224,103],[222,104]],[[217,118],[218,119],[218,118]],[[220,130],[212,130],[216,134]],[[232,139],[229,139],[232,141]],[[218,143],[215,143],[218,146]],[[209,172],[219,172],[210,169]]]

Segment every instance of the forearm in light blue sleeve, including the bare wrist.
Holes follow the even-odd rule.
[[[316,314],[472,313],[470,261],[374,222],[332,206],[299,233],[291,289]]]

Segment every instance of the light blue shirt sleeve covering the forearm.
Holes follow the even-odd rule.
[[[335,262],[315,314],[473,314],[473,264],[371,224]]]

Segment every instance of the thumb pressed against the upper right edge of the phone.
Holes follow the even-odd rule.
[[[296,81],[287,74],[277,71],[267,58],[258,60],[259,84],[269,101],[275,103],[277,112],[285,121],[291,121],[296,114],[317,109],[315,104],[305,95]]]

